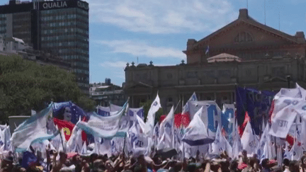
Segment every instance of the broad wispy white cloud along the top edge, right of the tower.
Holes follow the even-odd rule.
[[[147,33],[213,31],[225,25],[234,8],[229,0],[87,0],[91,22]]]

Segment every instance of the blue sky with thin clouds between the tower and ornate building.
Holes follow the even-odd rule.
[[[200,40],[237,19],[246,0],[86,0],[89,2],[90,81],[125,81],[126,63],[175,65],[188,38]],[[8,0],[0,0],[6,4]],[[265,22],[264,0],[249,0],[249,16]],[[306,34],[305,0],[266,0],[266,25]]]

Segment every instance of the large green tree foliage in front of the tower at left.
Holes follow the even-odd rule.
[[[94,101],[81,93],[71,72],[17,55],[0,55],[0,120],[30,115],[31,109],[40,111],[51,101],[72,101],[84,110],[94,108]]]

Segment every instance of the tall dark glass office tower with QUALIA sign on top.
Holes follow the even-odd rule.
[[[72,64],[77,84],[89,93],[89,4],[85,1],[9,1],[0,6],[0,34]]]

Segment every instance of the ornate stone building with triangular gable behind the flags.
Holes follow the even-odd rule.
[[[288,84],[306,86],[303,32],[288,35],[263,25],[239,10],[237,20],[202,40],[189,39],[187,64],[154,67],[152,62],[125,68],[125,94],[132,107],[159,91],[164,110],[186,103],[193,91],[199,100],[219,105],[235,101],[235,86],[278,91]],[[180,108],[178,108],[180,109]]]

